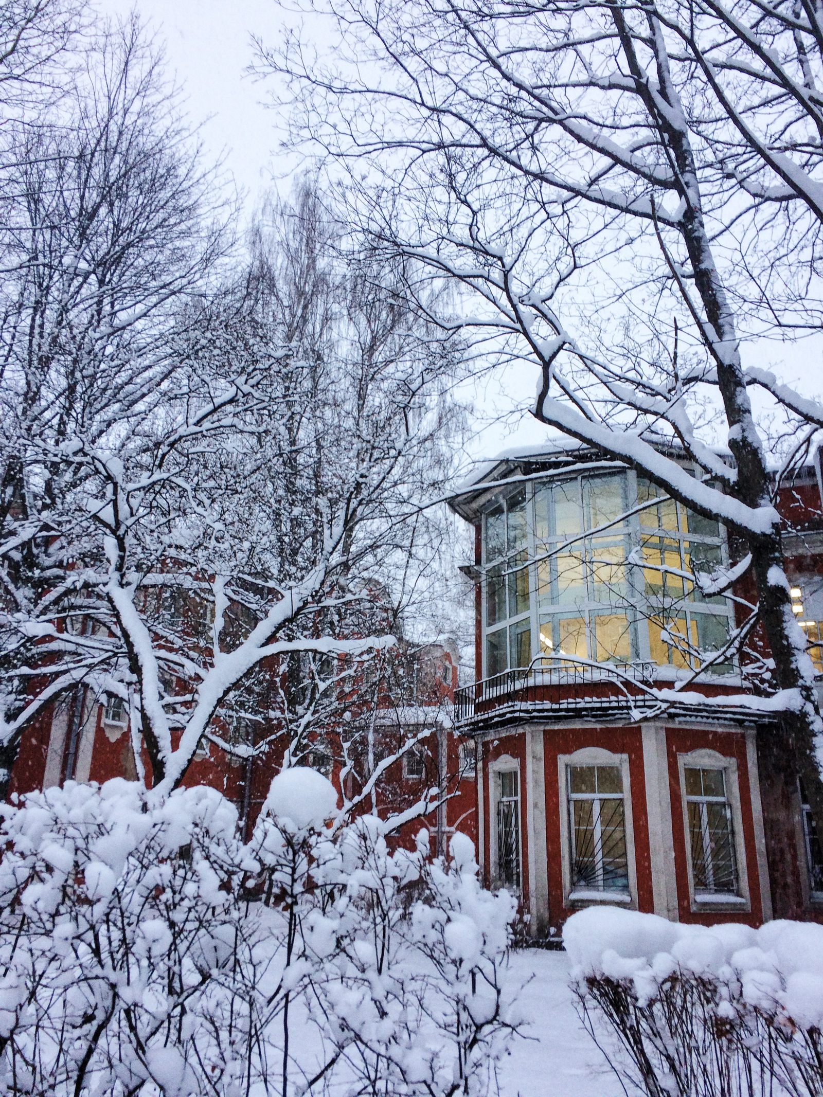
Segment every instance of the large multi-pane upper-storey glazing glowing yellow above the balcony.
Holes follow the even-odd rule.
[[[541,656],[566,668],[652,659],[698,669],[710,658],[726,672],[731,603],[696,581],[724,559],[717,521],[633,475],[515,486],[484,517],[483,676]],[[816,641],[815,627],[805,631]]]

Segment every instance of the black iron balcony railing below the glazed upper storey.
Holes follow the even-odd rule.
[[[586,697],[586,687],[601,682],[632,682],[651,686],[654,676],[654,663],[599,663],[596,665],[550,666],[550,667],[517,667],[504,670],[499,675],[484,678],[454,690],[454,720],[458,723],[471,720],[478,710],[486,713],[510,704],[527,704],[529,698],[535,704],[551,704],[538,691],[548,687],[563,687],[573,692],[566,694],[566,700]]]

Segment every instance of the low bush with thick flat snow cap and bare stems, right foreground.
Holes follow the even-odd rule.
[[[584,1024],[650,1097],[823,1093],[823,926],[590,908],[563,942]]]

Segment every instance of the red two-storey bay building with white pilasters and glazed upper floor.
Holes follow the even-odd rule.
[[[729,562],[722,528],[577,445],[504,455],[451,506],[476,534],[477,680],[456,691],[455,727],[477,747],[487,883],[518,891],[541,937],[595,903],[709,924],[821,917],[823,859],[780,777],[776,716],[723,654],[747,591],[706,597],[689,579]],[[819,644],[819,464],[779,507],[796,613]]]

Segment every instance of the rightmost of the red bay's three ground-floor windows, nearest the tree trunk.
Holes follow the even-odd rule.
[[[732,805],[722,769],[684,769],[695,896],[736,895]]]

